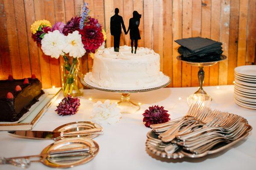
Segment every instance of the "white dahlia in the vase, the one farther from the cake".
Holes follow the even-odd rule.
[[[60,55],[64,55],[62,50],[66,46],[65,36],[59,30],[45,34],[41,43],[41,49],[45,55],[50,55],[52,58],[59,58]]]

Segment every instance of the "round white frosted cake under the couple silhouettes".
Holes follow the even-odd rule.
[[[90,81],[101,87],[119,88],[146,88],[164,77],[159,54],[143,47],[132,54],[130,46],[120,46],[119,52],[114,52],[113,47],[99,49],[94,55],[93,70],[87,74]]]

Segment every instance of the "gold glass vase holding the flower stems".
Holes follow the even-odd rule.
[[[64,96],[73,97],[83,95],[81,58],[73,58],[68,55],[61,57],[61,86]]]

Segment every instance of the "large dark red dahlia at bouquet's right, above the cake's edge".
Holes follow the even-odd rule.
[[[84,49],[88,53],[95,53],[96,49],[104,42],[102,29],[94,25],[84,26],[83,29],[79,30],[79,34],[81,34]]]

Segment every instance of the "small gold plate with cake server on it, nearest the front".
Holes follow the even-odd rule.
[[[31,162],[41,162],[49,167],[67,168],[84,164],[99,152],[99,145],[91,139],[64,139],[50,144],[39,155],[0,158],[0,164],[28,168]]]

